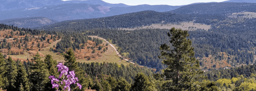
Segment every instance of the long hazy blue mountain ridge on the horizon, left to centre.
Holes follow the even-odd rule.
[[[169,11],[177,9],[179,6],[169,5],[138,5],[130,7],[107,7],[102,5],[92,5],[85,3],[60,4],[44,7],[34,7],[30,9],[18,9],[9,11],[0,11],[0,20],[13,18],[28,18],[43,16],[57,21],[101,18],[124,13],[139,12],[145,10]]]

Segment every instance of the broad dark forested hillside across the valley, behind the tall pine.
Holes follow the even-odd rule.
[[[106,18],[63,21],[41,29],[84,32],[85,35],[109,39],[120,47],[121,53],[129,53],[133,62],[161,70],[165,66],[157,57],[159,55],[157,48],[165,42],[167,37],[165,34],[168,29],[134,31],[115,29],[135,28],[153,23],[179,24],[179,22],[193,20],[194,23],[211,25],[211,29],[207,31],[202,29],[189,31],[189,38],[193,40],[193,47],[195,47],[195,56],[201,61],[201,69],[219,69],[254,63],[255,37],[253,35],[255,34],[253,22],[255,19],[230,18],[229,14],[182,15],[143,11]]]

